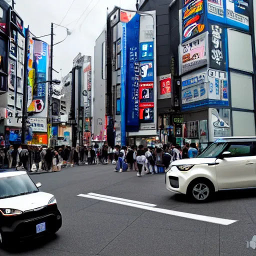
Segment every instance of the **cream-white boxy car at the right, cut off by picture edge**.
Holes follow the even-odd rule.
[[[223,137],[197,158],[177,160],[166,169],[166,188],[205,201],[214,192],[256,187],[256,137]]]

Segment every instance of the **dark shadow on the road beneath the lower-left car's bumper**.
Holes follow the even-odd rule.
[[[33,250],[37,250],[45,245],[50,245],[59,239],[58,234],[46,235],[36,239],[29,239],[25,242],[11,244],[11,246],[2,247],[1,249],[5,252],[20,255],[20,253],[29,253]]]

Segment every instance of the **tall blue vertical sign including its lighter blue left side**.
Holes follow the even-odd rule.
[[[121,88],[126,86],[126,94],[121,97],[122,104],[128,102],[126,107],[126,126],[132,130],[139,129],[139,15],[136,14],[128,23],[122,24],[122,54]],[[134,36],[134,34],[136,36]],[[126,59],[127,55],[127,59]],[[127,61],[127,63],[126,63]],[[125,85],[126,84],[126,85]],[[123,116],[125,123],[125,115]],[[127,127],[126,127],[127,128]],[[125,135],[125,134],[124,134]]]

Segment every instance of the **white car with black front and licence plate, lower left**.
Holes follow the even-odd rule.
[[[52,194],[25,171],[0,171],[0,244],[55,233],[62,224]]]

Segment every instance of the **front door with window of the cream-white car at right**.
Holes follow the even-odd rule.
[[[218,189],[256,186],[256,157],[252,142],[230,142],[231,155],[216,159]]]

